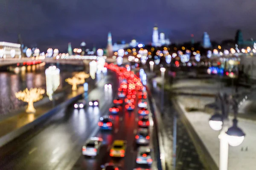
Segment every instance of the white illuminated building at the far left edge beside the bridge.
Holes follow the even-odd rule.
[[[21,58],[20,44],[0,42],[0,58]]]

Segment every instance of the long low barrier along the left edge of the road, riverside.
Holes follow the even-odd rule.
[[[57,105],[55,108],[53,108],[52,110],[48,111],[47,113],[41,115],[40,117],[35,119],[33,122],[30,122],[30,123],[26,124],[25,126],[20,127],[19,129],[16,129],[16,130],[14,130],[14,131],[12,131],[10,133],[7,133],[4,136],[1,136],[0,137],[0,147],[2,147],[3,145],[7,144],[8,142],[11,142],[13,139],[17,138],[18,136],[20,136],[21,134],[25,133],[29,129],[35,127],[35,125],[38,125],[39,123],[45,121],[49,117],[53,116],[55,113],[58,113],[58,111],[60,111],[61,108],[67,107],[72,102],[75,102],[76,100],[81,98],[81,96],[82,96],[82,94],[79,94],[76,97],[68,99],[65,102],[62,102],[61,104]]]

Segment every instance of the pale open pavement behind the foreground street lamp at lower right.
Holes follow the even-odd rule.
[[[192,125],[193,130],[201,141],[204,143],[204,146],[207,148],[210,156],[218,165],[219,163],[219,140],[218,140],[218,131],[214,131],[209,127],[209,118],[211,114],[204,113],[201,111],[187,112],[185,107],[187,107],[186,99],[177,100],[177,107],[183,112]],[[230,118],[230,125],[232,118]],[[238,147],[229,147],[229,170],[255,170],[256,167],[256,121],[247,120],[238,118],[238,126],[246,133],[244,142]],[[246,150],[247,148],[247,150]]]

